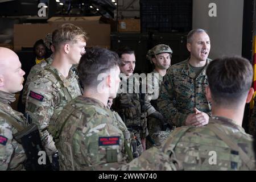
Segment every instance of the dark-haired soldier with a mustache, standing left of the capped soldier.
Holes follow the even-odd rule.
[[[136,74],[133,74],[136,62],[134,51],[125,47],[120,48],[117,53],[122,61],[122,65],[119,66],[122,81],[117,97],[113,100],[112,109],[122,117],[131,133],[133,156],[136,158],[146,150],[146,137],[148,137],[146,118],[151,116],[163,121],[163,116],[150,104],[145,96],[146,93],[137,89],[143,88],[144,84]]]

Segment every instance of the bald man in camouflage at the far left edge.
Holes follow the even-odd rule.
[[[23,88],[23,75],[19,57],[10,49],[0,47],[0,171],[22,170],[26,155],[21,144],[13,135],[18,133],[16,125],[26,127],[22,113],[11,109],[15,92]],[[16,123],[15,126],[10,122]]]

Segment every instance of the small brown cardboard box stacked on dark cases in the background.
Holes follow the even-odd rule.
[[[119,20],[118,32],[141,32],[141,20],[140,19]]]

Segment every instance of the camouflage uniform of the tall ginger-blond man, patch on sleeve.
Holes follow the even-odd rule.
[[[52,155],[56,147],[49,132],[63,107],[82,94],[79,82],[72,70],[64,78],[57,69],[47,65],[30,82],[27,93],[26,112],[38,125],[47,154]]]

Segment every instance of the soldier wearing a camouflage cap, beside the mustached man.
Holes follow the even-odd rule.
[[[147,84],[150,85],[148,89],[152,89],[152,92],[148,93],[147,96],[150,100],[152,98],[150,102],[156,110],[158,110],[156,99],[159,96],[159,86],[162,84],[163,76],[166,75],[167,69],[171,66],[171,56],[172,49],[164,44],[156,45],[147,53],[147,59],[150,60],[150,63],[154,64],[155,67],[150,73],[152,82],[150,82],[151,80],[147,81]],[[166,121],[165,118],[162,120]],[[160,144],[168,137],[171,130],[166,126],[167,125],[163,125],[163,123],[159,123],[158,119],[148,117],[148,134],[150,135],[151,140],[149,139],[146,141],[147,148],[151,146],[160,146]]]

